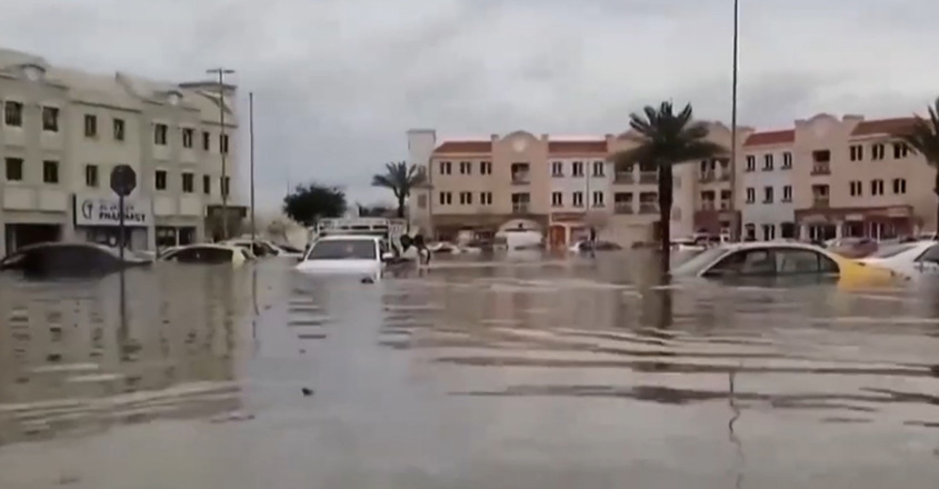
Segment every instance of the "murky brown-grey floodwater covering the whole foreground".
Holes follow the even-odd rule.
[[[0,488],[935,488],[939,285],[0,278]]]

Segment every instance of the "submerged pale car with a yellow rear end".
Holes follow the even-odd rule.
[[[710,248],[672,270],[673,277],[773,279],[793,282],[835,279],[869,286],[896,282],[900,276],[817,247],[795,241],[765,241]]]

